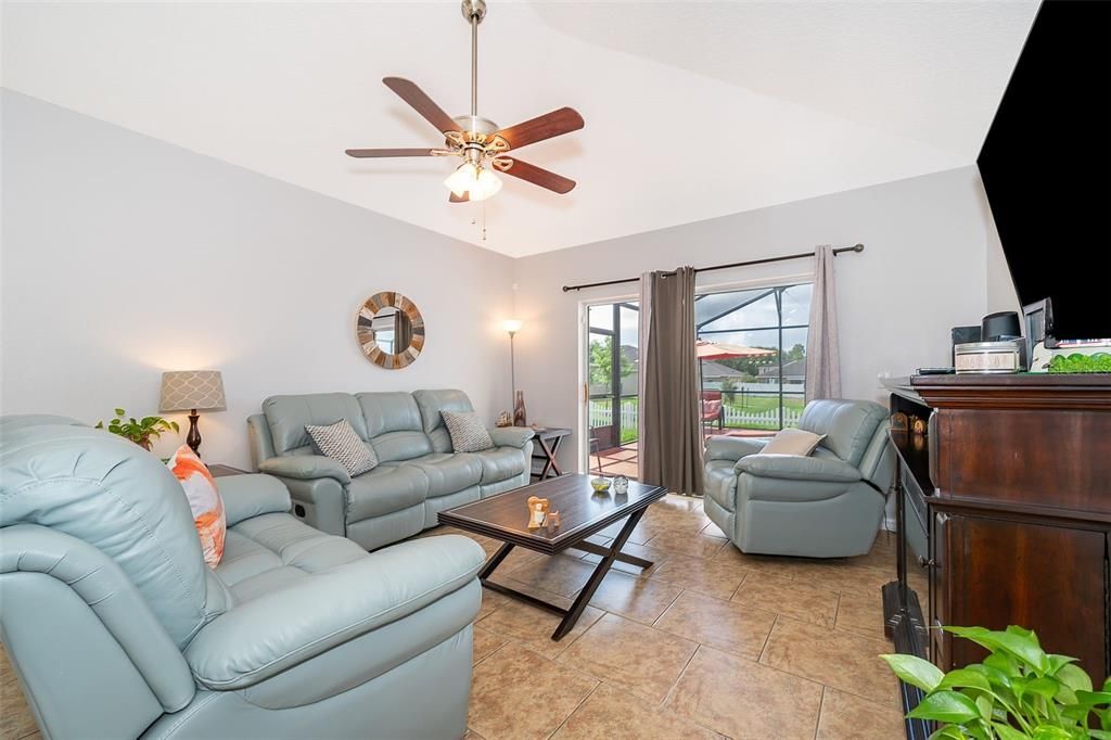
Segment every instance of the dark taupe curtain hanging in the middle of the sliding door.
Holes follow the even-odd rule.
[[[694,268],[640,278],[640,478],[702,494]]]

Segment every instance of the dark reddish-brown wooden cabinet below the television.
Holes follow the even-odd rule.
[[[929,624],[1038,632],[1050,652],[1111,669],[1111,378],[913,379],[930,424]],[[978,661],[931,630],[943,670]]]

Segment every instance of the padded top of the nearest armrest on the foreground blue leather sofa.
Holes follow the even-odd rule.
[[[466,537],[403,542],[224,612],[186,649],[198,683],[242,689],[467,586],[486,553]]]

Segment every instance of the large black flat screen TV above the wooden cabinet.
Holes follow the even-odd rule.
[[[977,163],[1019,301],[1111,338],[1111,1],[1042,3]]]

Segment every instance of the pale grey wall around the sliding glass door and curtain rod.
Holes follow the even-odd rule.
[[[634,234],[517,262],[518,387],[530,420],[577,428],[581,407],[579,307],[627,296],[637,286],[564,293],[563,284],[645,270],[737,262],[862,242],[837,258],[842,390],[885,401],[877,374],[950,363],[950,328],[1005,308],[1009,276],[991,254],[990,216],[974,167],[852,190],[785,206]],[[993,227],[992,234],[994,233]],[[998,249],[998,237],[992,236]],[[699,274],[701,287],[807,273],[811,260]],[[1013,290],[1010,300],[1013,301]],[[563,461],[577,462],[575,443]]]

